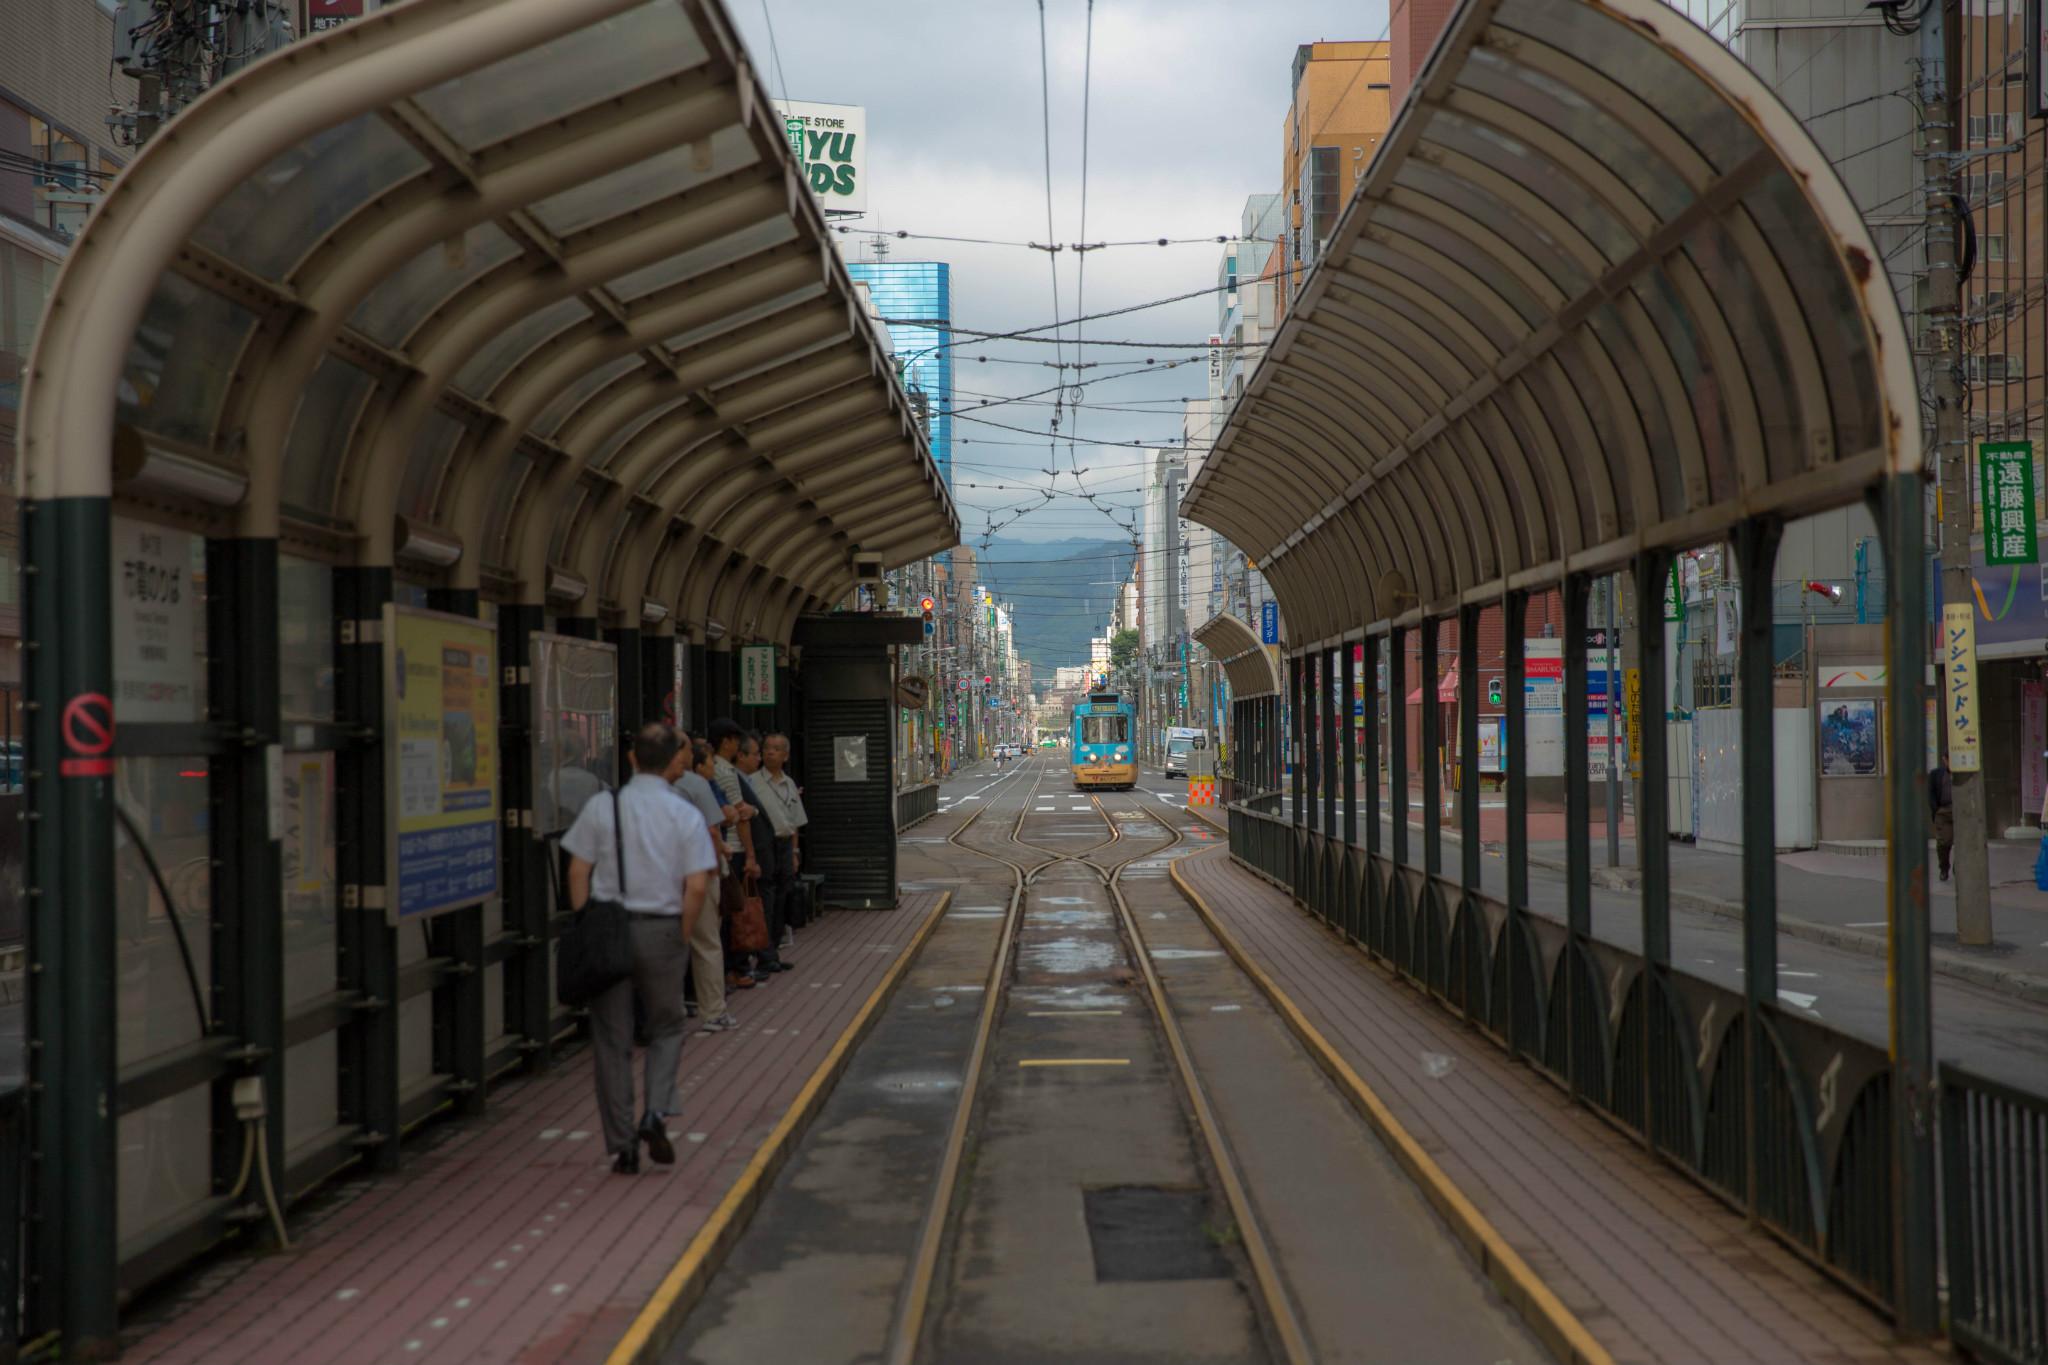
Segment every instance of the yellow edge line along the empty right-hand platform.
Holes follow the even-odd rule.
[[[1200,814],[1194,806],[1184,808],[1196,819],[1208,819],[1214,823],[1212,817]],[[1473,1252],[1473,1259],[1479,1261],[1487,1279],[1491,1279],[1501,1291],[1501,1297],[1505,1297],[1516,1312],[1522,1314],[1522,1320],[1530,1324],[1550,1353],[1571,1365],[1614,1365],[1614,1357],[1608,1355],[1606,1347],[1593,1340],[1593,1334],[1585,1330],[1579,1316],[1565,1308],[1565,1302],[1550,1291],[1550,1285],[1538,1279],[1528,1261],[1524,1261],[1522,1254],[1507,1244],[1507,1238],[1503,1238],[1493,1224],[1487,1222],[1487,1216],[1481,1214],[1456,1185],[1452,1185],[1450,1177],[1444,1175],[1444,1169],[1421,1150],[1421,1144],[1415,1142],[1409,1130],[1395,1117],[1393,1109],[1386,1107],[1372,1087],[1366,1085],[1364,1076],[1352,1070],[1352,1064],[1329,1046],[1329,1040],[1325,1040],[1313,1023],[1309,1023],[1309,1017],[1300,1013],[1300,1007],[1294,1005],[1278,982],[1266,974],[1266,968],[1253,962],[1251,954],[1247,954],[1231,931],[1223,927],[1223,921],[1212,909],[1208,909],[1202,894],[1188,884],[1186,876],[1182,876],[1180,860],[1176,860],[1167,872],[1174,876],[1174,884],[1180,886],[1180,894],[1188,898],[1196,915],[1200,915],[1208,925],[1208,931],[1217,935],[1219,943],[1223,943],[1223,950],[1231,954],[1231,960],[1237,962],[1245,976],[1249,976],[1266,999],[1272,1001],[1272,1007],[1280,1011],[1282,1019],[1286,1019],[1294,1038],[1303,1042],[1317,1066],[1321,1066],[1329,1078],[1337,1083],[1337,1089],[1352,1101],[1352,1107],[1358,1109],[1368,1124],[1372,1124],[1374,1132],[1378,1132],[1380,1140],[1386,1144],[1386,1150],[1391,1150],[1395,1160],[1401,1162],[1401,1169],[1409,1173],[1409,1179],[1421,1187],[1423,1197],[1436,1205],[1436,1212],[1444,1216],[1444,1222],[1450,1224],[1452,1232],[1458,1234],[1458,1240]]]

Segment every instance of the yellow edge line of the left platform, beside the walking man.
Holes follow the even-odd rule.
[[[653,1291],[647,1306],[641,1308],[639,1316],[633,1318],[633,1326],[627,1334],[618,1338],[610,1355],[604,1357],[604,1365],[651,1365],[651,1361],[668,1349],[670,1340],[676,1336],[676,1328],[696,1306],[696,1300],[705,1293],[711,1277],[717,1275],[719,1265],[725,1261],[725,1252],[731,1250],[739,1234],[745,1232],[748,1220],[754,1218],[754,1209],[760,1205],[762,1195],[768,1193],[768,1185],[774,1181],[776,1171],[788,1160],[788,1154],[797,1148],[811,1119],[825,1105],[825,1097],[831,1093],[834,1083],[840,1072],[846,1070],[846,1062],[852,1058],[854,1048],[872,1027],[874,1019],[881,1015],[883,1005],[889,995],[897,988],[909,972],[911,962],[918,960],[918,950],[924,941],[932,937],[940,919],[946,915],[946,907],[952,902],[952,892],[944,892],[932,913],[924,917],[918,925],[918,933],[911,935],[909,948],[895,960],[889,974],[883,976],[881,984],[868,995],[860,1013],[854,1015],[852,1023],[840,1033],[840,1042],[831,1046],[825,1060],[817,1064],[811,1078],[805,1083],[797,1099],[791,1101],[788,1109],[782,1113],[782,1121],[774,1126],[774,1132],[762,1140],[760,1148],[754,1152],[754,1160],[748,1169],[739,1173],[719,1207],[711,1212],[705,1226],[696,1230],[690,1244],[682,1250],[682,1259],[670,1267],[668,1275],[662,1277],[662,1287]]]

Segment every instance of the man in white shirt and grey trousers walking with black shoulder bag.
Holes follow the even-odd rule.
[[[682,976],[690,964],[690,933],[705,909],[705,888],[719,855],[696,806],[676,796],[682,737],[659,720],[633,737],[633,780],[610,800],[584,804],[561,837],[569,853],[569,905],[592,898],[627,909],[633,933],[633,976],[590,1003],[590,1054],[598,1085],[598,1117],[612,1171],[639,1173],[639,1148],[659,1162],[676,1160],[668,1117],[676,1111],[676,1068],[688,1017]],[[623,874],[623,876],[621,876]],[[633,1001],[647,1007],[647,1109],[633,1124]]]

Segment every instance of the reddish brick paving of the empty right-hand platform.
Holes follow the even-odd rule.
[[[1180,872],[1616,1361],[1935,1361],[1212,847]],[[1423,1054],[1452,1058],[1442,1078]]]

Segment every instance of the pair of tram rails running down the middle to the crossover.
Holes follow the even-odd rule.
[[[1139,917],[1133,913],[1130,900],[1124,896],[1122,874],[1130,864],[1143,862],[1147,857],[1157,857],[1186,841],[1186,833],[1171,823],[1165,812],[1153,812],[1139,802],[1137,794],[1116,794],[1116,798],[1128,802],[1126,819],[1116,819],[1104,806],[1100,794],[1090,794],[1090,802],[1096,814],[1102,817],[1108,837],[1083,849],[1055,849],[1042,843],[1034,843],[1024,837],[1024,827],[1028,817],[1034,812],[1040,786],[1044,786],[1051,765],[1040,759],[1038,776],[1030,786],[1030,794],[1024,798],[1016,821],[1010,825],[1004,843],[1028,849],[1032,853],[1044,853],[1047,857],[1026,864],[1014,857],[1006,857],[1001,851],[993,851],[985,845],[971,843],[965,835],[987,814],[987,806],[977,810],[973,817],[961,823],[961,827],[948,835],[948,843],[954,847],[987,857],[1010,868],[1012,888],[1010,905],[1004,915],[1004,925],[999,941],[989,964],[987,982],[983,988],[981,1015],[975,1023],[975,1038],[969,1050],[969,1058],[961,1078],[961,1101],[954,1113],[944,1158],[934,1181],[932,1199],[926,1209],[924,1224],[920,1228],[918,1250],[911,1261],[911,1273],[905,1279],[905,1289],[897,1304],[897,1314],[891,1326],[889,1345],[885,1359],[891,1365],[911,1365],[918,1359],[920,1345],[926,1338],[928,1316],[932,1310],[934,1287],[938,1283],[940,1265],[948,1246],[948,1236],[954,1224],[954,1209],[961,1195],[961,1166],[967,1152],[969,1136],[975,1130],[975,1115],[983,1103],[983,1078],[987,1074],[989,1048],[997,1031],[999,1017],[1008,1003],[1008,982],[1016,966],[1018,939],[1026,915],[1026,894],[1032,882],[1051,868],[1063,864],[1079,864],[1094,872],[1110,907],[1116,917],[1116,925],[1128,945],[1130,956],[1137,960],[1137,972],[1145,982],[1145,999],[1151,1005],[1151,1017],[1165,1040],[1167,1056],[1174,1064],[1174,1074],[1180,1083],[1182,1099],[1194,1130],[1200,1134],[1202,1150],[1208,1158],[1208,1166],[1214,1173],[1214,1181],[1221,1187],[1223,1199],[1231,1209],[1231,1218],[1237,1228],[1237,1236],[1251,1267],[1251,1279],[1255,1289],[1255,1300],[1262,1310],[1266,1328],[1272,1334],[1272,1342],[1278,1353],[1290,1365],[1298,1365],[1311,1359],[1307,1332],[1303,1330],[1300,1318],[1286,1291],[1284,1279],[1280,1275],[1278,1261],[1272,1252],[1272,1244],[1260,1226],[1257,1214],[1251,1207],[1251,1199],[1245,1187],[1243,1173],[1223,1138],[1223,1128],[1217,1119],[1214,1107],[1208,1101],[1208,1093],[1196,1072],[1194,1058],[1188,1050],[1188,1042],[1182,1036],[1180,1023],[1174,1017],[1171,1001],[1167,999],[1165,986],[1159,980],[1159,972],[1151,962],[1151,952],[1145,941],[1145,933],[1139,925]],[[1126,841],[1126,827],[1130,823],[1159,823],[1167,839],[1151,843],[1149,847],[1137,849],[1126,857],[1102,860],[1106,849],[1112,849]],[[1133,839],[1137,835],[1130,835]]]

